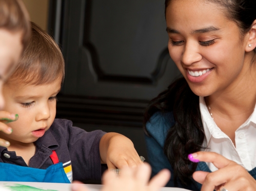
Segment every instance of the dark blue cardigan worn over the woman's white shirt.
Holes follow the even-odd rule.
[[[148,162],[152,166],[152,176],[157,174],[162,169],[169,169],[173,174],[173,169],[168,161],[167,156],[164,154],[164,143],[170,127],[174,125],[174,118],[172,112],[160,113],[156,112],[147,122],[146,129],[150,136],[145,135],[146,147],[148,154]],[[211,172],[205,162],[199,162],[196,171]],[[256,168],[249,171],[250,175],[256,179]],[[167,187],[174,187],[174,179],[171,176]],[[200,190],[201,184],[195,182],[194,184],[185,186],[178,180],[178,187],[190,190]]]

